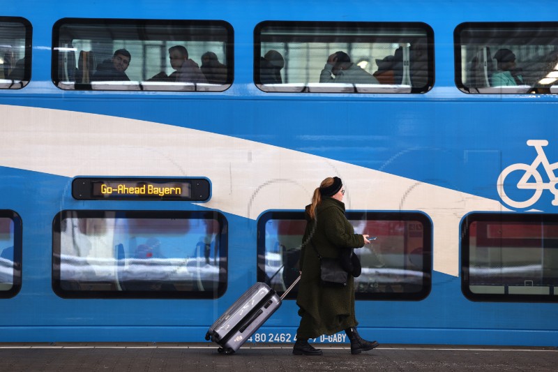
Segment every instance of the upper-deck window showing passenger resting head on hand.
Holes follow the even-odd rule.
[[[418,22],[262,22],[254,33],[262,91],[425,93],[434,33]]]

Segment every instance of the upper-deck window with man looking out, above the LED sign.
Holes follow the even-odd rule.
[[[61,89],[224,91],[233,47],[223,21],[65,18],[54,24],[52,81]]]

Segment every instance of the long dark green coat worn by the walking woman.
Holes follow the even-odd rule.
[[[319,254],[327,258],[338,257],[340,249],[364,245],[363,236],[354,233],[345,217],[345,204],[338,200],[324,198],[316,208],[315,220],[310,220],[308,213],[306,218],[308,223],[302,239],[300,262],[302,277],[296,297],[301,315],[296,336],[301,339],[331,335],[358,325],[354,315],[354,278],[349,274],[349,281],[343,288],[322,287],[319,260],[310,239]]]

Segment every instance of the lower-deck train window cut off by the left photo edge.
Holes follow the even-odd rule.
[[[0,210],[0,298],[10,298],[22,286],[22,220]]]

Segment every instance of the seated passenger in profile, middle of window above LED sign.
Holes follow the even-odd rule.
[[[165,71],[161,71],[157,75],[151,77],[151,81],[163,82],[207,82],[204,73],[192,59],[188,58],[188,50],[182,45],[174,45],[169,47],[170,66],[174,68],[174,73],[167,75]]]

